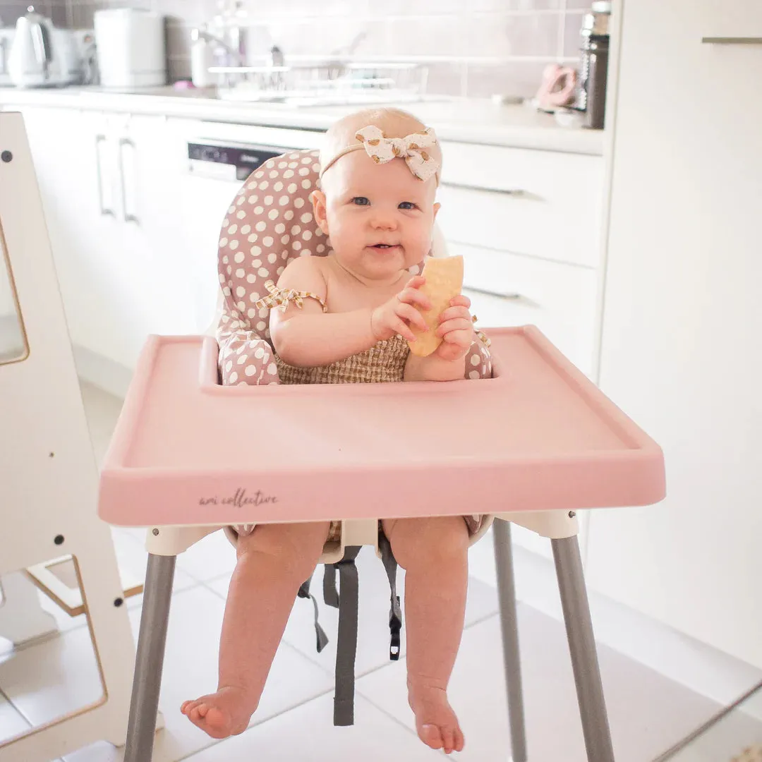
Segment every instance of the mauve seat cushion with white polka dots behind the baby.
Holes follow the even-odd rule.
[[[309,200],[318,180],[318,155],[292,151],[264,162],[246,178],[223,220],[218,261],[225,303],[216,338],[226,386],[280,383],[267,309],[251,305],[266,293],[265,281],[277,283],[292,259],[331,253]],[[420,273],[421,264],[411,267],[411,274]],[[466,378],[491,373],[489,350],[475,338],[466,357]]]

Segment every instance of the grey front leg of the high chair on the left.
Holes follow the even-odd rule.
[[[124,762],[150,762],[153,755],[175,558],[149,553]]]

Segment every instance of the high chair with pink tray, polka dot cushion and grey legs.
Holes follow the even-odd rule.
[[[335,696],[335,724],[346,725],[357,550],[373,546],[393,582],[379,518],[473,513],[495,518],[514,762],[527,760],[527,746],[509,522],[552,541],[588,758],[611,762],[575,511],[661,500],[661,449],[532,326],[490,329],[490,351],[476,341],[468,377],[451,383],[280,385],[268,311],[255,302],[290,258],[329,251],[309,203],[316,161],[317,152],[287,152],[245,181],[219,240],[217,340],[149,339],[104,462],[101,518],[149,527],[125,762],[151,759],[178,553],[219,528],[235,541],[231,527],[245,524],[342,521],[321,561],[338,565],[341,598],[349,600],[339,620]],[[400,443],[405,430],[415,437]],[[476,433],[453,439],[452,431]],[[264,434],[267,446],[258,446]],[[277,455],[286,445],[288,463]],[[330,584],[327,592],[330,600]],[[394,658],[393,584],[391,601]]]

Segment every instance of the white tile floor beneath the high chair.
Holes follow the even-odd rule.
[[[84,392],[94,447],[102,456],[120,401],[89,386]],[[113,534],[120,565],[143,573],[142,533],[122,529]],[[475,568],[485,562],[483,554],[489,555],[488,548],[485,544]],[[218,742],[187,722],[179,712],[181,702],[216,685],[219,629],[234,560],[222,533],[208,536],[178,559],[162,681],[166,727],[156,737],[156,762],[332,762],[351,756],[365,762],[389,757],[415,762],[441,757],[415,736],[405,701],[404,659],[399,663],[388,660],[389,588],[383,566],[370,549],[364,549],[358,559],[360,633],[353,727],[334,728],[331,722],[337,614],[321,604],[321,621],[331,645],[318,655],[312,604],[306,600],[294,605],[260,709],[247,732]],[[535,557],[530,563],[536,562]],[[517,565],[521,565],[520,555]],[[517,569],[517,575],[521,573]],[[321,589],[319,581],[317,576],[315,591]],[[404,578],[401,587],[404,589]],[[140,597],[127,604],[135,635],[139,604]],[[53,604],[46,603],[46,607],[59,622],[58,636],[17,652],[3,652],[0,644],[0,743],[100,694],[85,617],[72,620]],[[510,756],[497,610],[495,588],[472,578],[467,627],[451,687],[453,706],[467,737],[466,750],[455,755],[462,760],[492,762]],[[522,604],[520,638],[530,759],[583,762],[574,680],[561,623]],[[600,646],[600,662],[618,762],[652,760],[719,708],[604,645]],[[64,762],[121,759],[120,749],[98,743],[68,754]]]

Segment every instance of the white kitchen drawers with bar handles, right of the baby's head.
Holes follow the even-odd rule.
[[[459,142],[442,147],[437,223],[450,254],[463,255],[463,293],[479,327],[536,325],[592,377],[604,158]],[[582,514],[583,552],[586,527]],[[522,527],[513,539],[552,555],[548,539]]]

